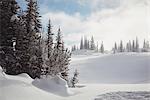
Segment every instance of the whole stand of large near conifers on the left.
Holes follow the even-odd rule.
[[[68,80],[71,53],[64,47],[61,29],[54,34],[49,20],[44,40],[38,2],[26,0],[26,3],[23,11],[16,0],[0,1],[0,66],[11,75],[27,73],[32,78],[60,75]]]

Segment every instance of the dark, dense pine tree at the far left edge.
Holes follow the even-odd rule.
[[[12,68],[16,64],[15,41],[17,30],[17,10],[19,6],[15,0],[0,1],[0,65],[7,74],[16,74]]]

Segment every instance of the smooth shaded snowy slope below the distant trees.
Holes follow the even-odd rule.
[[[73,55],[71,73],[76,68],[80,83],[150,82],[148,53]]]

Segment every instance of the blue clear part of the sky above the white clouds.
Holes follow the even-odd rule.
[[[25,9],[25,0],[17,0],[19,5]],[[74,14],[79,12],[83,16],[89,15],[91,13],[91,8],[89,2],[81,5],[78,0],[38,0],[40,7],[40,13],[44,14],[47,11],[43,11],[42,8],[46,7],[48,11],[59,12],[64,11],[67,14]]]

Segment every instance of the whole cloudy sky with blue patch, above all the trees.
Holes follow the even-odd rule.
[[[25,10],[24,0],[17,0]],[[67,47],[79,45],[81,37],[110,50],[120,40],[125,43],[136,36],[140,46],[150,40],[150,0],[38,0],[41,21],[47,29],[51,19],[53,32],[61,28]]]

